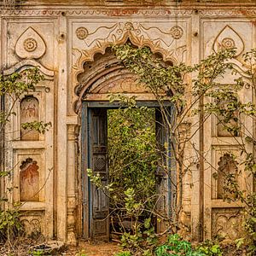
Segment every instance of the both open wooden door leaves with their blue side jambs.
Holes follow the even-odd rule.
[[[108,116],[109,106],[89,108],[90,102],[84,102],[82,108],[82,190],[83,190],[83,237],[97,241],[109,240],[109,201],[108,192],[98,189],[90,182],[87,169],[101,177],[102,186],[108,184]],[[152,106],[151,106],[152,107]],[[154,107],[154,106],[153,106]],[[169,121],[172,122],[172,108],[169,109]],[[157,211],[166,218],[172,216],[172,201],[175,196],[175,161],[172,158],[170,129],[159,108],[155,111],[156,140],[160,150],[160,163],[156,172],[157,193],[160,199]],[[166,230],[166,222],[157,222],[157,231]]]

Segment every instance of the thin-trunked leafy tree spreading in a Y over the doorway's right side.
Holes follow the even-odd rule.
[[[193,148],[193,137],[200,130],[197,123],[191,127],[193,113],[201,112],[200,102],[207,91],[216,86],[216,79],[223,75],[230,67],[227,60],[230,60],[235,50],[222,50],[210,55],[206,60],[194,67],[183,63],[174,66],[166,66],[165,63],[155,57],[150,49],[135,49],[130,44],[114,46],[116,55],[128,69],[137,73],[138,82],[144,84],[148,90],[154,93],[156,100],[160,104],[160,111],[164,119],[164,124],[170,132],[170,143],[172,156],[176,161],[177,179],[172,180],[175,184],[175,191],[172,205],[172,228],[177,231],[179,226],[179,216],[182,212],[183,204],[183,177],[191,172],[191,166],[199,162],[196,156],[185,155],[186,148]],[[198,73],[189,86],[189,75]],[[175,106],[175,119],[170,119],[166,111],[165,102],[171,102]],[[202,123],[209,118],[209,114],[202,117]],[[193,133],[191,134],[192,131]],[[166,168],[167,166],[164,166]],[[168,172],[166,168],[166,172]],[[192,184],[193,185],[193,184]]]

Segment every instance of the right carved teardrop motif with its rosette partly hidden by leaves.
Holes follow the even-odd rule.
[[[240,55],[244,49],[244,44],[238,33],[230,26],[225,26],[224,29],[218,33],[213,43],[213,50],[218,52],[219,49],[236,48],[236,56]]]

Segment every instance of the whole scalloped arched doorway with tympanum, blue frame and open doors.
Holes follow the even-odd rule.
[[[155,136],[162,148],[170,154],[169,131],[166,130],[161,119],[159,105],[153,94],[142,84],[137,84],[137,77],[129,72],[107,50],[104,55],[96,55],[93,62],[85,63],[84,73],[79,77],[80,86],[78,108],[81,108],[82,117],[82,191],[83,191],[83,216],[82,234],[85,239],[109,239],[109,207],[108,195],[90,182],[87,170],[99,174],[103,185],[108,184],[108,125],[107,114],[109,108],[119,108],[118,102],[109,102],[111,94],[125,94],[136,96],[137,104],[155,108]],[[170,109],[170,116],[172,106]],[[167,145],[167,147],[164,145]],[[171,167],[170,155],[166,166]],[[157,190],[163,195],[158,201],[158,210],[166,216],[171,215],[172,201],[171,177],[158,168]],[[158,223],[158,232],[166,230],[164,222]]]

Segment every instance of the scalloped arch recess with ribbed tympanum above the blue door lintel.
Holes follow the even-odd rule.
[[[162,59],[165,65],[173,65],[172,61],[165,61],[160,52],[153,54]],[[155,100],[155,96],[143,84],[138,84],[137,75],[120,63],[110,47],[93,55],[93,60],[85,61],[83,70],[77,77],[79,84],[75,87],[75,94],[79,97],[74,105],[76,113],[84,100],[108,101],[110,94],[136,96],[140,101]]]

